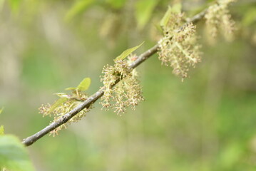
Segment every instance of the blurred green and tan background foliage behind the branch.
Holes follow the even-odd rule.
[[[0,1],[0,125],[21,140],[44,128],[38,108],[53,93],[92,79],[126,48],[160,38],[171,0]],[[181,1],[193,16],[210,1]],[[256,5],[230,7],[231,43],[205,39],[203,61],[181,82],[154,55],[138,67],[145,101],[122,117],[95,108],[28,147],[36,170],[256,170]]]

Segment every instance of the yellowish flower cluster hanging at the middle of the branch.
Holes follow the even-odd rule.
[[[130,57],[131,60],[133,58],[134,56]],[[128,63],[126,60],[115,61],[114,66],[107,65],[103,68],[104,75],[101,76],[104,85],[101,104],[106,110],[113,108],[118,115],[125,113],[128,106],[135,110],[135,105],[143,100],[136,72],[128,68]],[[120,82],[116,84],[116,81]]]

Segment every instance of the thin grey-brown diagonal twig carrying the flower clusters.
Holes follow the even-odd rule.
[[[199,14],[193,16],[190,20],[188,20],[188,23],[193,22],[194,24],[200,21],[200,19],[205,16],[206,11],[202,11]],[[187,23],[187,24],[188,24]],[[185,24],[183,25],[185,26]],[[148,49],[148,51],[145,51],[142,53],[130,66],[129,68],[134,69],[137,66],[140,65],[140,63],[143,63],[145,60],[147,60],[150,56],[153,56],[158,51],[158,44],[153,46],[152,48]],[[118,83],[120,80],[117,80],[116,83]],[[63,125],[64,123],[68,122],[73,116],[75,116],[77,113],[79,113],[84,108],[89,108],[91,104],[95,103],[96,100],[101,98],[101,96],[104,94],[103,90],[98,90],[96,93],[91,95],[87,100],[85,100],[81,105],[78,105],[78,107],[71,110],[69,113],[66,113],[61,118],[56,120],[55,122],[51,123],[50,125],[46,126],[46,128],[43,128],[43,130],[40,130],[38,133],[35,133],[34,135],[31,135],[28,138],[25,138],[22,143],[25,146],[29,146],[34,144],[37,140],[42,138],[44,135],[50,133],[52,130],[58,128],[59,126]]]

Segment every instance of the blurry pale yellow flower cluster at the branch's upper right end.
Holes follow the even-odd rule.
[[[208,36],[208,41],[211,44],[215,43],[218,32],[222,33],[226,41],[232,41],[234,38],[235,21],[231,19],[231,15],[227,9],[227,6],[234,1],[218,1],[213,6],[210,6],[207,14],[205,14],[206,32],[207,35],[210,35]]]

